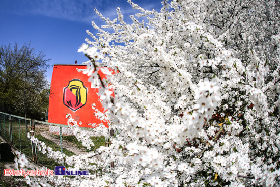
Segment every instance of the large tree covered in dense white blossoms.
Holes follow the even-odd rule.
[[[114,20],[95,10],[106,25],[92,22],[98,34],[87,31],[93,41],[79,49],[89,81],[99,69],[107,75],[99,80],[107,111],[93,108],[115,132],[96,128],[110,147],[68,157],[32,138],[73,169],[96,171],[66,183],[279,186],[279,1],[162,1],[160,12],[128,2],[140,12],[132,24],[119,8]]]

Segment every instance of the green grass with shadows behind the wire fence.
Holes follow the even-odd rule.
[[[1,136],[4,137],[9,143],[10,141],[10,135],[9,135],[9,120],[8,118],[6,119],[7,116],[5,116],[5,124],[4,124],[4,118],[3,115],[0,116],[0,125],[1,125]],[[27,128],[30,131],[31,126],[30,126],[30,121],[26,121],[27,123]],[[32,148],[31,148],[31,141],[27,138],[27,132],[26,132],[26,123],[25,120],[20,121],[18,119],[12,119],[12,139],[13,139],[13,146],[16,147],[18,150],[20,150],[22,153],[24,153],[26,156],[29,156],[31,159],[33,159],[33,154],[32,154]],[[5,126],[4,126],[5,125]],[[38,138],[38,140],[45,142],[46,146],[49,146],[52,148],[53,151],[61,151],[61,148],[59,145],[55,144],[51,140],[43,137],[40,135],[40,132],[43,131],[48,131],[49,127],[48,125],[40,125],[38,126],[36,124],[37,128],[35,128],[35,137]],[[4,136],[4,127],[5,127],[5,136]],[[20,131],[20,134],[19,134]],[[60,140],[59,135],[50,135],[54,136],[58,140]],[[82,146],[82,143],[77,140],[77,138],[73,135],[63,135],[62,139],[64,141],[68,141],[71,143],[74,143],[77,145],[77,148],[79,149],[84,149],[83,151],[89,152],[89,150]],[[93,140],[93,143],[95,144],[94,147],[92,147],[92,150],[98,149],[100,146],[105,146],[105,137],[90,137],[91,140]],[[73,147],[75,148],[75,147]],[[54,159],[50,159],[47,157],[46,154],[42,154],[41,151],[36,149],[37,152],[37,159],[38,163],[40,163],[43,166],[46,166],[50,169],[53,169],[57,165],[61,165],[57,162],[54,161]],[[66,154],[67,156],[72,156],[75,155],[72,151],[67,150],[66,148],[63,148],[63,153]]]

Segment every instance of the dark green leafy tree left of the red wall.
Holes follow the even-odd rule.
[[[42,52],[35,53],[30,43],[0,47],[0,105],[2,110],[25,117],[40,117],[48,101],[41,96],[49,87],[45,72],[49,65]],[[36,112],[36,114],[34,113]]]

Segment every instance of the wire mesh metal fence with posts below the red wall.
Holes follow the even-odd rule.
[[[100,146],[108,146],[109,140],[95,135],[93,128],[82,128],[82,130],[85,130],[93,140],[95,144],[94,149]],[[28,132],[31,132],[38,140],[45,142],[46,146],[51,147],[53,151],[61,151],[68,156],[88,152],[82,146],[82,143],[73,136],[68,125],[48,123],[0,112],[0,136],[2,138],[32,159],[36,164],[49,168],[59,165],[59,163],[48,158],[46,154],[38,151],[35,144],[27,138]]]

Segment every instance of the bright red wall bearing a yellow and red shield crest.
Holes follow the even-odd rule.
[[[87,76],[87,74],[83,74],[82,71],[78,72],[77,69],[87,69],[87,66],[86,65],[61,65],[61,64],[55,64],[53,66],[51,86],[50,86],[50,98],[49,98],[48,120],[50,123],[67,125],[67,118],[66,118],[67,113],[70,113],[73,119],[76,119],[76,121],[78,122],[81,121],[82,124],[79,125],[81,127],[90,127],[89,125],[87,125],[87,123],[99,124],[101,122],[99,119],[97,119],[94,116],[93,114],[94,110],[92,109],[92,104],[95,103],[97,109],[99,109],[101,112],[103,112],[104,110],[101,102],[98,100],[99,99],[99,96],[97,95],[98,88],[92,88],[91,82],[88,81],[89,77]],[[105,76],[102,73],[100,74],[102,78],[105,78]],[[72,84],[72,83],[77,83],[77,81],[71,82],[73,79],[79,80],[80,82],[83,83],[83,88],[79,86],[82,92],[78,92],[78,88],[75,87],[77,84]],[[67,88],[68,86],[69,88],[72,88],[73,93],[71,93],[70,89]],[[82,93],[85,93],[85,88],[87,89],[86,102],[85,101],[78,102],[80,98],[81,100],[85,98],[85,95],[82,95]],[[72,95],[70,95],[69,93]],[[71,102],[69,103],[70,101],[69,99],[67,102],[66,101],[67,98],[72,99],[72,103]],[[77,102],[73,102],[73,99],[74,101],[77,100]],[[75,105],[75,103],[79,103],[79,105],[77,104],[78,106],[76,108],[74,108],[74,106],[73,107],[69,106],[69,104]],[[104,123],[104,125],[107,126],[106,123]]]

